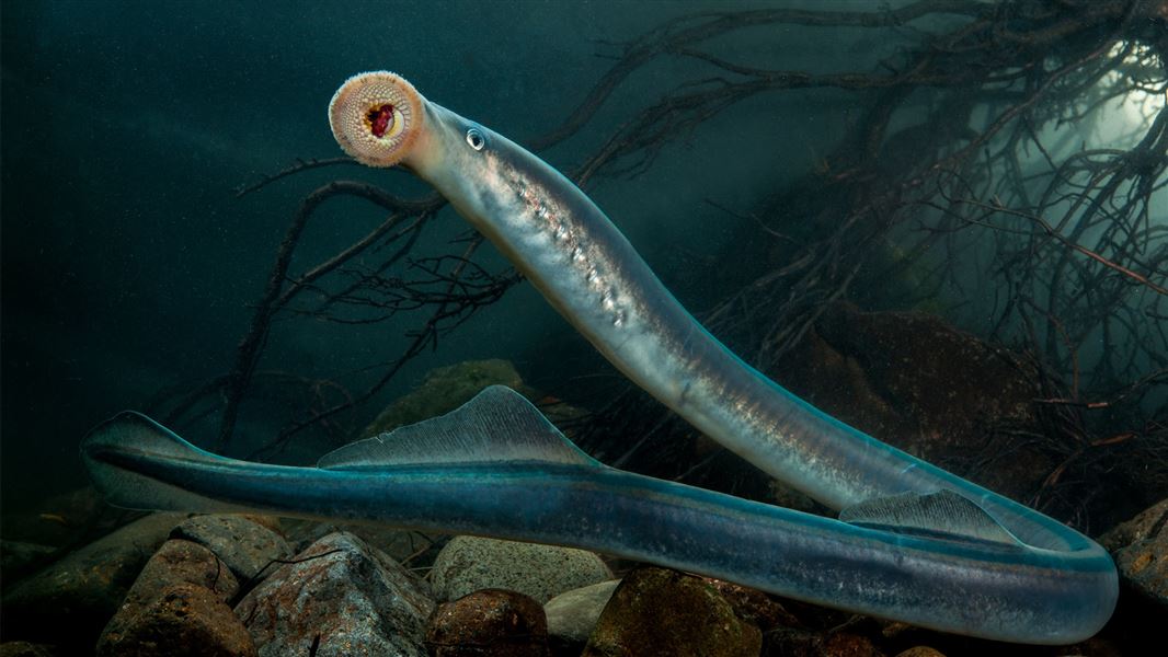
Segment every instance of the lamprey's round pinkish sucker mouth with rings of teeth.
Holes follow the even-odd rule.
[[[373,71],[350,77],[328,104],[333,137],[362,165],[392,167],[409,156],[422,133],[423,98],[398,75]]]

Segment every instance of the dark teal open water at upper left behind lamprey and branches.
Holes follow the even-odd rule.
[[[296,158],[339,154],[325,110],[349,75],[398,71],[430,99],[522,142],[556,127],[605,72],[611,60],[598,55],[618,50],[604,42],[719,5],[5,2],[4,504],[82,484],[76,447],[89,427],[230,368],[276,246],[318,184],[364,179],[424,191],[405,175],[346,167],[234,197]],[[742,48],[790,65],[830,63],[835,44],[808,46],[792,35]],[[854,61],[850,46],[839,49]],[[675,65],[638,74],[548,160],[578,163],[630,107],[673,84]],[[832,142],[830,103],[821,95],[809,111],[804,102],[795,93],[744,104],[670,147],[645,176],[590,193],[668,280],[679,251],[712,253],[725,239],[708,209],[694,211],[703,198],[755,197],[783,174],[774,149],[791,151],[799,170],[815,142]],[[324,217],[298,253],[304,263],[356,239],[381,214],[338,204]],[[465,230],[449,210],[439,226],[419,253],[444,251]],[[287,369],[345,372],[391,357],[403,330],[293,328],[269,356]],[[522,286],[412,363],[383,398],[466,358],[509,357],[548,379],[555,357],[541,345],[586,349]]]

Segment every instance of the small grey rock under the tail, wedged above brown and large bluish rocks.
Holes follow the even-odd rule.
[[[292,554],[284,537],[245,516],[195,516],[171,534],[203,545],[243,581],[271,572],[272,561]],[[266,571],[264,568],[267,568]]]

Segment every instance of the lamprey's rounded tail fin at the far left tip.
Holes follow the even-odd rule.
[[[185,490],[201,466],[230,462],[182,440],[154,420],[124,411],[89,432],[81,442],[81,457],[105,499],[125,509],[193,511],[201,513],[245,511]]]

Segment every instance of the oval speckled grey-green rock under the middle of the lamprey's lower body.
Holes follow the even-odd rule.
[[[472,536],[454,537],[430,571],[440,601],[506,588],[543,604],[565,590],[611,579],[612,571],[592,552]]]

